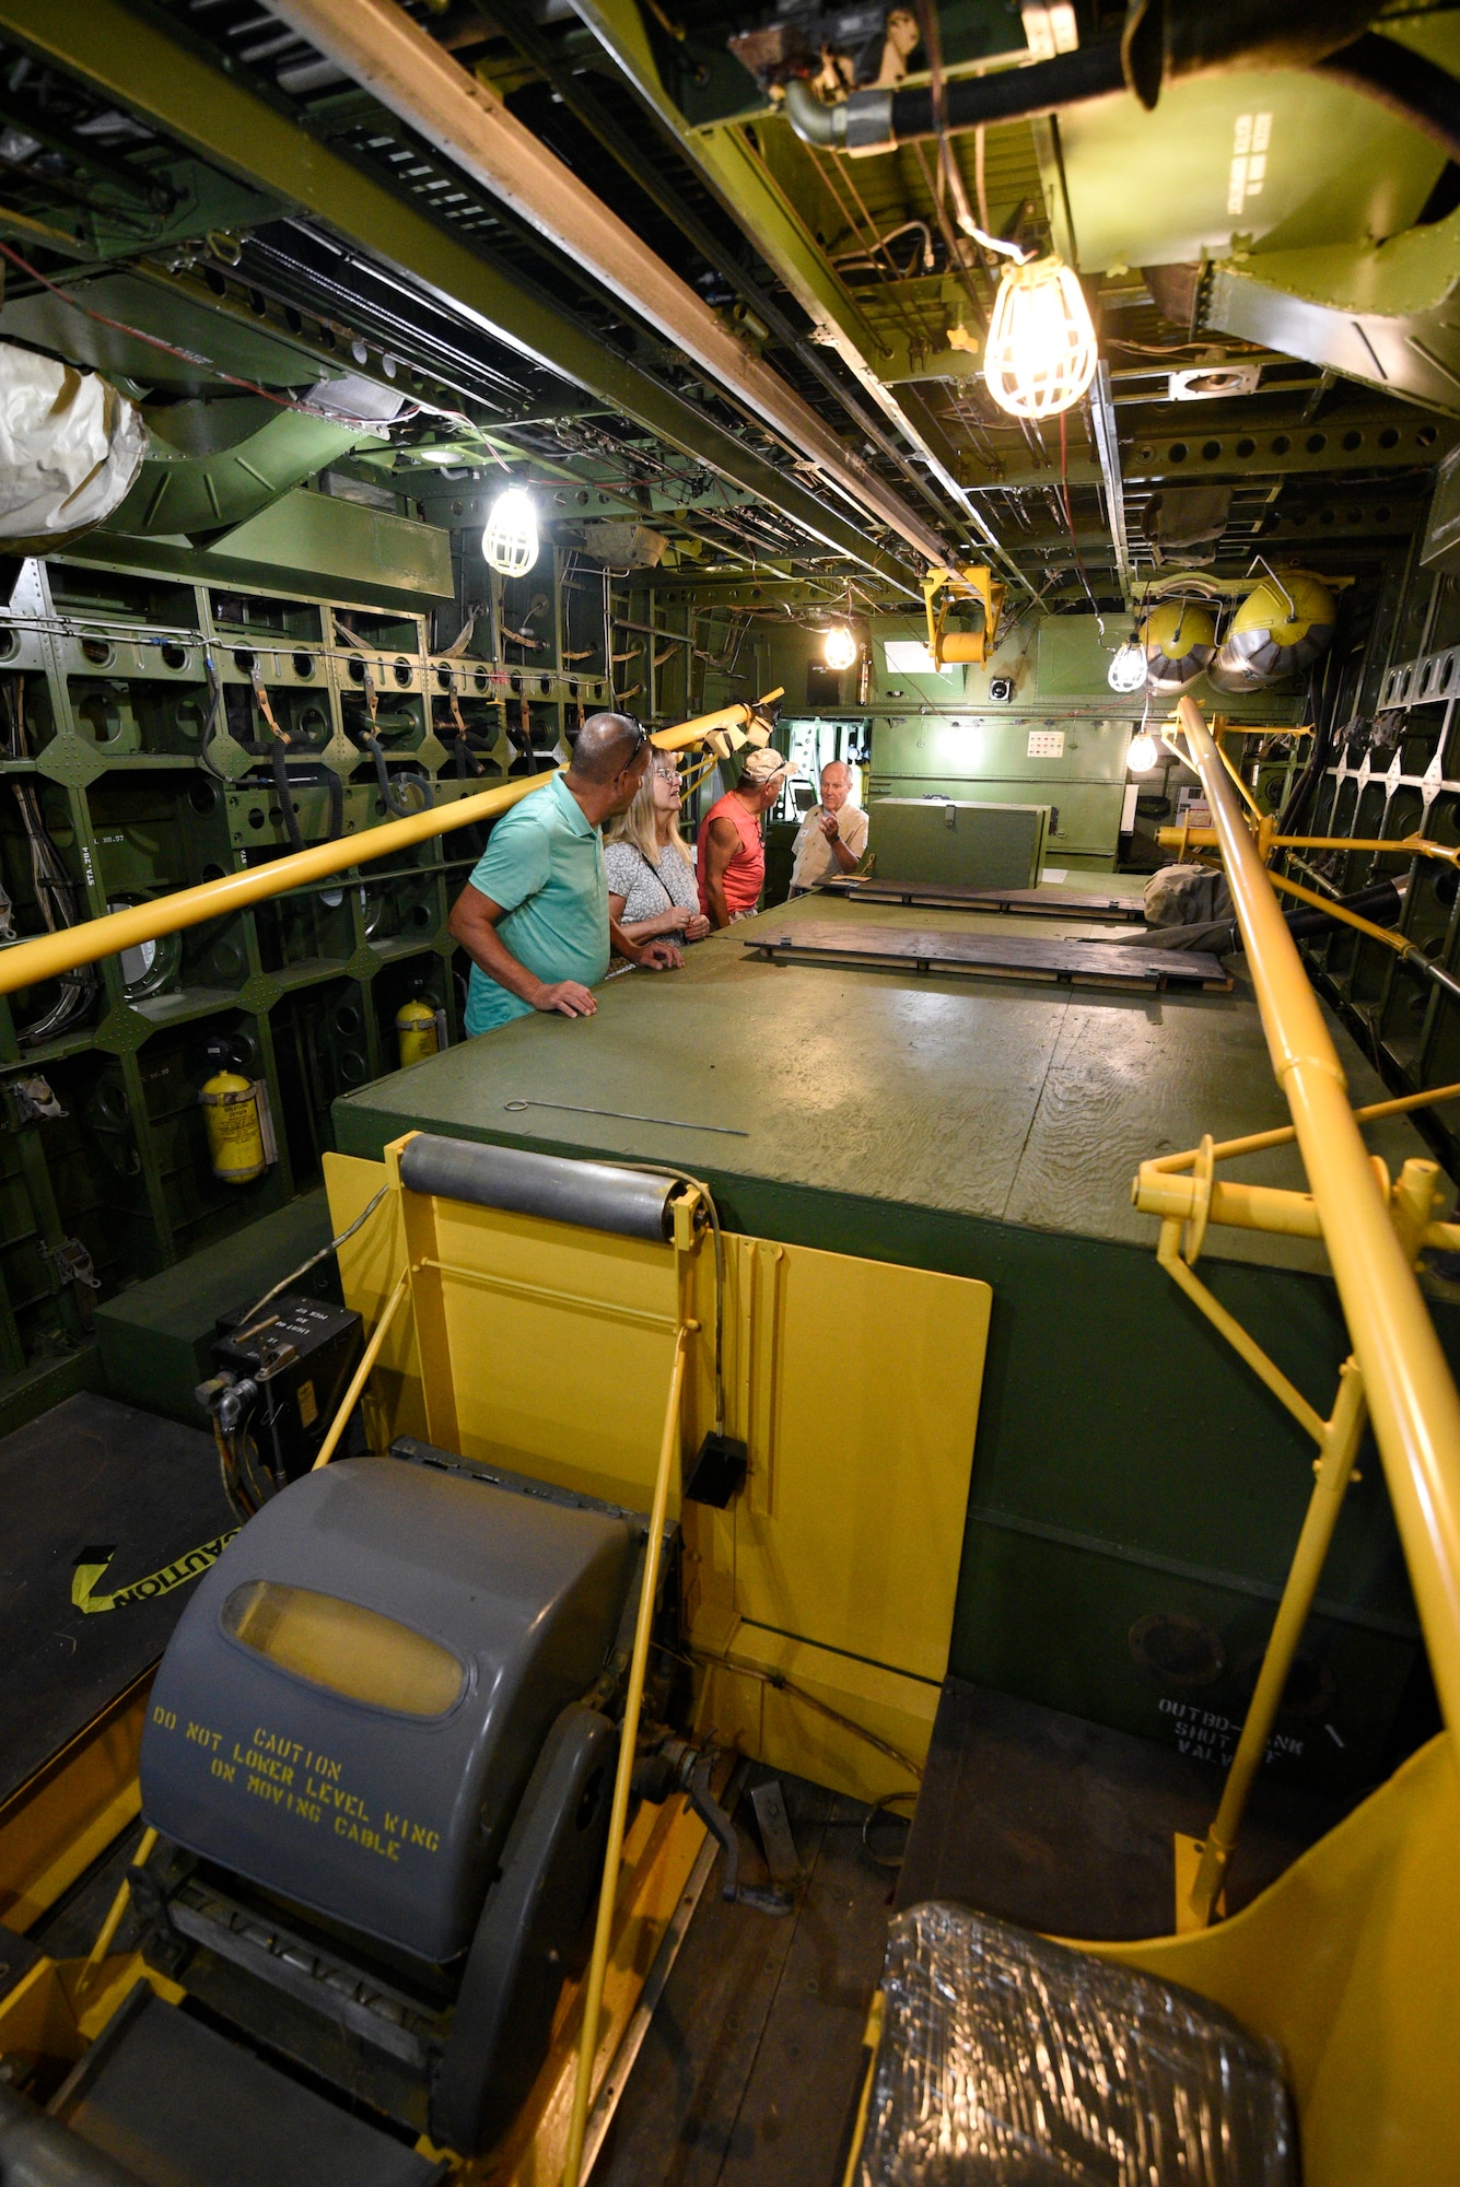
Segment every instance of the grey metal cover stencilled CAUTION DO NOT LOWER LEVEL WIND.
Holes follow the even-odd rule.
[[[636,1529],[396,1459],[306,1474],[229,1542],[168,1645],[142,1813],[256,1883],[450,1960],[472,1940],[518,1798],[603,1669]],[[256,1579],[332,1594],[466,1664],[441,1717],[367,1706],[225,1634]]]

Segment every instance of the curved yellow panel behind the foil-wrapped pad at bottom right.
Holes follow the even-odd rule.
[[[1086,1951],[1272,2036],[1305,2187],[1460,2183],[1460,1758],[1443,1732],[1226,1922]]]

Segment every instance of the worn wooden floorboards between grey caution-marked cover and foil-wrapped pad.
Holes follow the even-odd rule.
[[[796,1909],[776,1918],[726,1905],[717,1863],[594,2187],[833,2187],[892,1876],[861,1850],[866,1809],[800,1778],[782,1787],[804,1870]],[[739,1826],[741,1879],[763,1883],[747,1798]]]

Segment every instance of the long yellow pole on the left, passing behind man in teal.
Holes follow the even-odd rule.
[[[756,704],[765,706],[776,698],[780,698],[780,691],[769,691]],[[737,702],[721,706],[717,713],[702,713],[693,722],[658,728],[649,741],[662,752],[680,752],[691,744],[702,744],[717,730],[745,728],[754,715],[756,706]],[[426,811],[407,814],[404,820],[387,820],[382,827],[365,829],[361,835],[317,842],[308,851],[273,857],[264,866],[249,866],[245,873],[225,873],[216,881],[179,888],[170,897],[153,897],[149,903],[131,903],[122,912],[105,912],[101,919],[87,919],[76,927],[61,927],[57,934],[37,934],[26,943],[15,943],[11,949],[0,949],[0,995],[35,986],[37,980],[59,980],[61,973],[76,971],[79,964],[94,964],[98,958],[153,943],[162,934],[179,934],[184,927],[197,927],[205,919],[223,919],[227,912],[240,912],[262,897],[282,897],[291,888],[323,881],[328,875],[363,866],[367,859],[387,857],[391,851],[404,851],[417,842],[431,842],[433,835],[450,835],[474,820],[494,820],[496,814],[505,814],[518,798],[531,796],[533,790],[551,783],[555,772],[551,768],[544,774],[525,774],[516,783],[498,783],[494,790],[481,790],[472,798],[457,798],[452,805],[433,805]]]

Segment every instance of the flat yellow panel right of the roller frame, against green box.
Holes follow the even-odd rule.
[[[732,1610],[940,1682],[992,1293],[811,1247],[726,1251],[728,1413],[750,1481],[723,1516],[686,1516],[702,1645],[719,1647]],[[699,1378],[699,1430],[706,1402]]]

